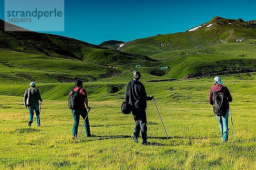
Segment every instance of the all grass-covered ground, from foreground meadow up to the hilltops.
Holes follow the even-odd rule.
[[[52,34],[5,32],[3,25],[0,20],[0,170],[256,169],[254,24],[214,17],[196,31],[137,39],[121,51]],[[148,101],[150,146],[131,140],[133,117],[120,111],[134,69],[154,95],[169,136]],[[225,144],[208,103],[217,75],[226,75],[233,96],[237,139],[230,122]],[[95,137],[83,130],[73,141],[67,100],[76,79],[84,80]],[[35,116],[28,127],[23,105],[32,81],[44,99],[41,127]]]

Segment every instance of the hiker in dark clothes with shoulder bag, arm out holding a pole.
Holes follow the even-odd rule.
[[[137,70],[133,71],[133,79],[126,84],[125,88],[125,101],[131,105],[131,113],[134,117],[135,126],[134,131],[131,134],[131,138],[134,142],[139,143],[138,137],[140,136],[142,144],[148,145],[150,142],[147,141],[147,100],[152,100],[154,96],[147,96],[145,86],[140,82],[140,72]]]

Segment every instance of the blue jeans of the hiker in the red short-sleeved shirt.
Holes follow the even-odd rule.
[[[77,135],[80,115],[82,116],[83,119],[85,119],[87,114],[88,113],[87,113],[86,109],[72,110],[72,115],[73,115],[73,119],[74,119],[73,135]],[[90,124],[89,124],[88,116],[84,122],[84,129],[85,129],[86,136],[90,136]]]

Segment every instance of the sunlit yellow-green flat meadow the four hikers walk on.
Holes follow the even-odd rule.
[[[221,142],[218,122],[208,103],[212,77],[182,81],[144,82],[153,94],[169,135],[152,101],[148,101],[148,141],[143,146],[131,140],[132,115],[123,115],[120,105],[129,78],[109,78],[84,83],[89,96],[93,138],[85,132],[71,139],[73,117],[67,94],[73,83],[38,83],[44,102],[41,127],[28,127],[29,113],[22,93],[27,85],[13,85],[9,93],[0,86],[0,169],[89,169],[89,170],[242,170],[256,168],[256,74],[222,77],[233,96],[230,104],[236,130],[231,122],[229,142]],[[2,84],[4,84],[2,82]],[[117,86],[118,91],[110,87]],[[53,90],[60,94],[55,96]],[[63,88],[61,88],[63,87]],[[113,89],[112,89],[113,90]],[[12,91],[15,96],[10,96]],[[6,96],[8,95],[8,96]],[[61,97],[62,95],[62,97]],[[34,117],[35,121],[35,117]],[[80,119],[79,130],[82,120]],[[139,139],[141,142],[141,139]]]

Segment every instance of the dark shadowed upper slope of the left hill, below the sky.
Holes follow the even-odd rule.
[[[10,28],[23,29],[10,23],[7,25]],[[102,64],[154,61],[144,55],[125,53],[59,35],[33,31],[6,32],[3,20],[0,20],[0,49]]]

